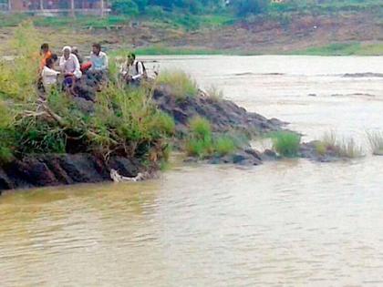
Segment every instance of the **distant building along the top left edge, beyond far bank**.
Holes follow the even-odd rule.
[[[3,0],[3,10],[10,13],[69,13],[105,15],[109,12],[107,0]]]

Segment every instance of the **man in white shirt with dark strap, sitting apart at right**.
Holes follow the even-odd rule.
[[[136,55],[130,53],[127,60],[119,70],[120,77],[128,85],[139,86],[142,79],[147,78],[146,68],[140,61],[136,61]]]

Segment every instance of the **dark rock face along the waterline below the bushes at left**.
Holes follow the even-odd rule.
[[[0,168],[0,190],[101,182],[110,180],[110,169],[132,178],[143,167],[137,159],[112,157],[105,161],[89,154],[26,157]]]

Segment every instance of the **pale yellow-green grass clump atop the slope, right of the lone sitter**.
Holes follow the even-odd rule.
[[[181,70],[164,70],[157,77],[157,84],[171,87],[171,93],[178,99],[194,97],[198,93],[198,87],[194,79]]]

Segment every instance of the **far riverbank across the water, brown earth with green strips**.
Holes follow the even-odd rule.
[[[0,15],[5,17],[5,15]],[[0,28],[6,43],[25,17],[4,19]],[[148,18],[110,16],[78,18],[32,17],[42,40],[54,49],[76,43],[88,51],[98,41],[109,50],[135,50],[139,55],[320,55],[376,56],[383,54],[383,26],[378,12],[338,14],[292,12],[225,20],[217,25],[188,28]],[[6,21],[5,21],[6,20]],[[65,38],[63,43],[62,39]],[[0,50],[6,47],[1,45]]]

